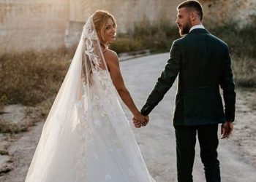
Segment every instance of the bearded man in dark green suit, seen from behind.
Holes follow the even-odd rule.
[[[222,138],[227,138],[233,130],[235,118],[236,92],[229,50],[224,41],[203,27],[203,9],[198,1],[184,1],[177,10],[176,24],[182,38],[173,41],[170,58],[141,113],[148,116],[178,76],[173,114],[178,181],[192,181],[196,135],[206,181],[220,181],[218,124],[222,124]],[[147,122],[134,119],[134,124],[141,127]]]

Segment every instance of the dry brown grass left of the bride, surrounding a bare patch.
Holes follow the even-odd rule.
[[[64,50],[1,56],[0,114],[7,104],[21,103],[28,107],[26,119],[19,123],[1,120],[0,132],[26,132],[45,119],[67,73],[70,58]]]

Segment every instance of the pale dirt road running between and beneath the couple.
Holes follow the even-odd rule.
[[[148,94],[157,81],[157,77],[165,66],[167,58],[168,54],[165,53],[129,60],[121,64],[124,80],[127,82],[127,87],[139,107],[143,106],[143,103],[146,101]],[[176,83],[167,92],[165,98],[159,103],[159,106],[151,112],[150,123],[142,129],[134,128],[137,141],[146,159],[148,168],[154,178],[159,182],[176,181],[176,143],[172,122],[175,95]],[[246,156],[246,152],[240,149],[237,142],[239,141],[239,137],[244,135],[243,132],[245,130],[242,128],[246,126],[246,122],[251,127],[252,124],[249,123],[255,122],[256,116],[253,113],[249,113],[249,115],[245,114],[248,108],[244,106],[243,100],[241,99],[241,93],[238,92],[237,121],[232,138],[219,140],[219,160],[221,162],[222,181],[225,182],[256,181],[256,167],[255,163],[252,163],[252,159],[255,158]],[[131,118],[132,116],[129,114],[127,108],[125,106],[123,108],[127,117]],[[246,133],[248,134],[248,132]],[[243,138],[240,141],[242,142],[242,140]],[[255,150],[256,143],[254,141],[253,138],[247,141],[247,143],[252,144],[251,146],[246,146],[247,150]],[[195,181],[205,181],[203,165],[199,157],[198,143],[193,175]]]

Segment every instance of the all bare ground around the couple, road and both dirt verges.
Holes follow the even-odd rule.
[[[148,93],[154,87],[167,58],[168,54],[164,53],[121,62],[124,81],[139,108],[143,106]],[[238,88],[236,92],[235,130],[227,140],[219,139],[222,181],[254,182],[256,179],[256,125],[254,124],[256,90]],[[137,129],[131,122],[148,170],[158,182],[176,181],[176,143],[172,123],[175,94],[176,83],[151,112],[150,122],[146,127]],[[124,104],[122,106],[127,119],[131,120],[132,115],[127,107]],[[43,124],[43,121],[38,121],[34,127],[29,127],[28,131],[13,135],[0,133],[0,181],[25,180]],[[205,181],[198,145],[193,175],[195,181]]]

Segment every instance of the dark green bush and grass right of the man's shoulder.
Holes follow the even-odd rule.
[[[252,17],[256,20],[256,17]],[[217,35],[230,47],[234,79],[241,87],[256,86],[256,39],[255,24],[238,28],[236,23],[210,28],[211,33]]]

